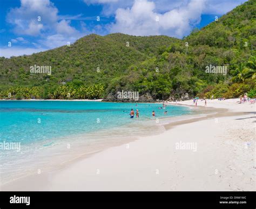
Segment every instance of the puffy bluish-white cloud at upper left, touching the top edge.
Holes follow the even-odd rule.
[[[21,0],[21,7],[11,9],[6,19],[17,34],[39,37],[79,33],[70,20],[60,19],[58,9],[49,0]]]

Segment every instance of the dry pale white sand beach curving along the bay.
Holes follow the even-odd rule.
[[[237,101],[207,100],[207,107],[219,109],[201,107],[204,101],[198,101],[198,109],[212,114],[165,124],[162,134],[140,137],[0,189],[255,191],[256,109],[255,104]],[[192,100],[177,103],[193,105]]]

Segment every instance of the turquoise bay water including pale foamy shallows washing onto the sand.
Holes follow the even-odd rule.
[[[63,143],[72,148],[88,147],[122,140],[122,136],[143,136],[147,129],[156,126],[156,119],[190,114],[180,106],[165,109],[156,103],[111,103],[85,101],[0,101],[0,142],[21,143],[21,151],[1,150],[2,180],[4,172],[10,175],[31,170],[28,164],[39,164],[46,156],[63,155],[58,151]],[[139,119],[130,119],[130,110],[139,110]],[[156,117],[152,117],[152,110]],[[167,115],[164,114],[167,111]],[[153,128],[157,132],[157,128]],[[149,130],[150,131],[150,130]],[[152,130],[151,130],[152,131]],[[112,138],[112,140],[111,140]],[[75,146],[76,145],[76,146]],[[1,147],[0,147],[1,148]],[[49,149],[46,149],[49,148]],[[66,148],[66,147],[65,147]],[[42,151],[47,150],[47,151]],[[74,149],[76,150],[76,149]],[[54,157],[47,159],[53,161]],[[24,166],[26,164],[26,166]],[[36,167],[35,167],[36,168]],[[32,169],[33,170],[33,169]]]

